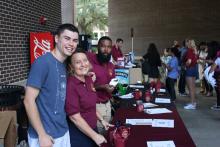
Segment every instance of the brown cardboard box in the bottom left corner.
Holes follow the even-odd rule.
[[[0,112],[0,147],[15,147],[17,139],[16,111]]]

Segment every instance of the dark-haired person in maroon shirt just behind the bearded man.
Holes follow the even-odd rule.
[[[123,45],[123,40],[118,38],[116,40],[116,44],[112,47],[112,58],[114,62],[118,61],[118,58],[123,57],[123,53],[121,51]]]

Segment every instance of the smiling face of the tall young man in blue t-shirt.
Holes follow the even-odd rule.
[[[77,32],[64,30],[60,35],[55,36],[56,49],[63,57],[71,56],[76,50],[79,42],[79,35]]]

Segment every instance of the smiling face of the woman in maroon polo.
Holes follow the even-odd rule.
[[[85,53],[74,53],[71,57],[70,68],[78,77],[83,77],[88,74],[90,63]]]

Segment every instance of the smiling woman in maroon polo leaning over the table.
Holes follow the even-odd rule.
[[[97,119],[105,129],[112,125],[96,111],[97,95],[92,78],[88,76],[90,63],[81,50],[76,50],[67,62],[70,76],[67,79],[65,109],[69,116],[71,146],[100,146],[106,139],[97,133]]]

